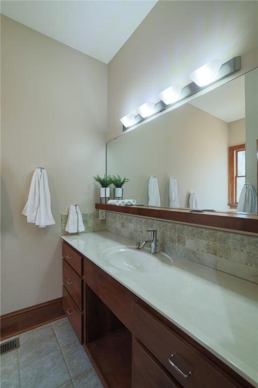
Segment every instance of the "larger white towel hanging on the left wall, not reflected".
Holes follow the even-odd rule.
[[[34,223],[40,228],[55,224],[51,212],[47,172],[44,168],[37,168],[34,171],[28,201],[22,214],[27,216],[27,222]]]

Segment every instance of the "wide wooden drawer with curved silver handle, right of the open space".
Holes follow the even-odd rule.
[[[138,304],[134,304],[133,335],[185,388],[239,387],[215,364],[206,361],[178,334]]]

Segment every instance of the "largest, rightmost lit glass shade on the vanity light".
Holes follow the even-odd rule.
[[[209,85],[215,81],[221,68],[222,61],[214,59],[208,62],[206,65],[199,67],[199,69],[193,71],[189,77],[198,86]]]

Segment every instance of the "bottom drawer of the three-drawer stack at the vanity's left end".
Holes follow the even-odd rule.
[[[62,307],[82,344],[83,315],[64,286],[62,287]]]

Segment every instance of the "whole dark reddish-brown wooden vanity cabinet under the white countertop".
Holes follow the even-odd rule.
[[[254,388],[65,241],[63,308],[104,388]]]

